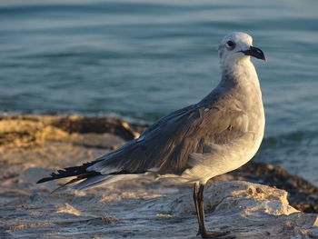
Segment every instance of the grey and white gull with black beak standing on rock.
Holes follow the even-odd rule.
[[[66,167],[37,183],[75,176],[63,184],[86,190],[120,180],[149,178],[194,184],[198,234],[208,231],[204,219],[204,185],[253,158],[263,140],[262,91],[251,56],[265,61],[252,36],[233,32],[218,47],[221,81],[201,101],[158,119],[138,138],[79,166]],[[59,187],[60,188],[60,187]]]

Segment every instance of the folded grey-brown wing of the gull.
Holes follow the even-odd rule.
[[[87,171],[140,174],[155,168],[158,174],[182,174],[191,167],[189,154],[202,154],[205,144],[226,144],[247,131],[248,116],[234,99],[204,99],[161,118],[138,139],[98,158]]]

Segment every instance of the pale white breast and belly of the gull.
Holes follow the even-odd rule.
[[[264,133],[265,118],[263,112],[262,92],[253,65],[244,65],[247,75],[242,77],[241,88],[247,97],[246,112],[249,117],[248,131],[242,137],[228,144],[211,144],[207,154],[194,154],[194,167],[184,171],[184,180],[200,181],[205,184],[210,178],[233,171],[246,164],[259,149]],[[241,71],[242,72],[242,71]],[[243,95],[239,93],[239,95]],[[196,162],[195,162],[196,161]]]

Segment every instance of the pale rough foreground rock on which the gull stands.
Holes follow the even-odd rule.
[[[130,183],[125,189],[126,183],[119,183],[87,192],[15,192],[19,199],[0,207],[6,218],[0,236],[198,238],[192,188]],[[227,232],[224,239],[318,238],[318,214],[299,212],[288,204],[285,191],[263,184],[208,185],[204,207],[208,229]]]

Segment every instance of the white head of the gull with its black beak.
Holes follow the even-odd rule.
[[[253,46],[251,35],[234,32],[225,35],[219,45],[219,57],[222,67],[235,65],[241,60],[249,60],[250,56],[265,60],[263,51]]]

